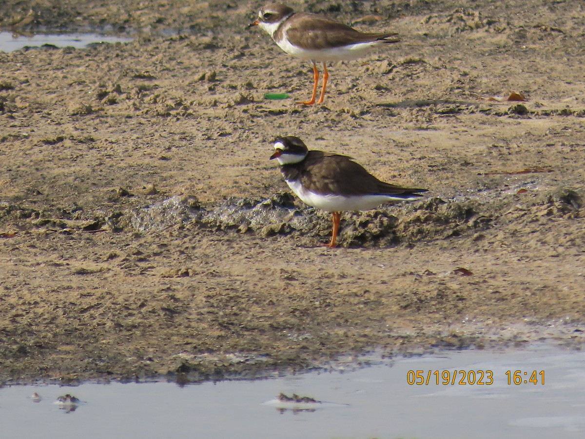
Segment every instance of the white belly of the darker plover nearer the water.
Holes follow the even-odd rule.
[[[344,212],[355,210],[370,210],[388,201],[405,201],[404,198],[394,198],[388,195],[363,195],[345,197],[342,195],[315,194],[302,187],[298,181],[287,181],[288,187],[297,194],[304,203],[327,212]],[[415,198],[412,198],[413,200]]]

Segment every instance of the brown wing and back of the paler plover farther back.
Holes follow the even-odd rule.
[[[293,16],[293,18],[296,18]],[[322,18],[318,15],[304,14],[311,20],[294,20],[287,29],[287,37],[292,44],[302,49],[315,50],[346,46],[352,43],[363,43],[376,40],[393,43],[397,34],[363,33],[343,23]],[[299,17],[301,18],[301,17]]]

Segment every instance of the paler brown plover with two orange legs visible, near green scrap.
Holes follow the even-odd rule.
[[[319,83],[316,62],[323,63],[323,87],[317,104],[325,98],[329,73],[327,61],[355,60],[376,46],[397,43],[397,33],[363,33],[343,23],[312,13],[294,12],[287,5],[271,3],[260,9],[258,18],[248,27],[260,26],[284,52],[309,60],[313,66],[313,93],[307,102],[313,105]]]

